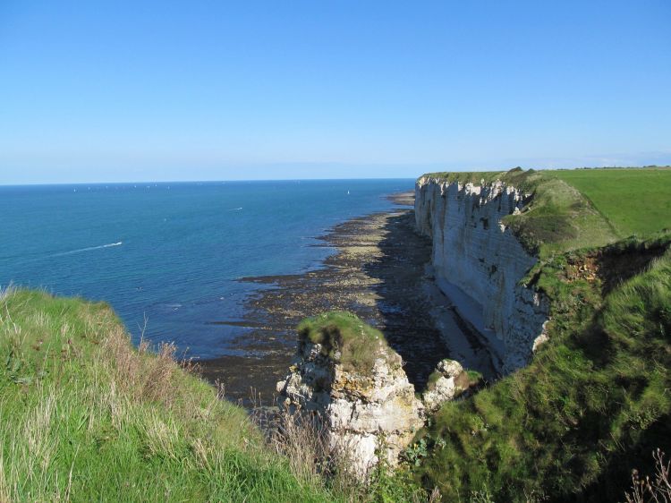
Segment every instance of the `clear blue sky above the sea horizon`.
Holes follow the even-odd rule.
[[[0,1],[0,183],[671,163],[671,2]]]

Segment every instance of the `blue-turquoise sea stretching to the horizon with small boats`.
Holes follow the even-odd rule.
[[[110,303],[137,342],[172,341],[201,358],[234,353],[254,286],[328,253],[315,237],[390,209],[413,180],[0,186],[0,286]]]

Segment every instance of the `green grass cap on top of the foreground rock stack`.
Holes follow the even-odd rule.
[[[321,353],[345,370],[368,374],[378,358],[401,364],[400,356],[386,344],[385,336],[351,312],[332,311],[303,320],[299,340],[321,345]]]

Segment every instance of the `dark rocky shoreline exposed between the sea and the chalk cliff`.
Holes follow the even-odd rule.
[[[244,320],[217,323],[246,328],[235,347],[249,355],[200,362],[203,376],[243,405],[272,405],[296,351],[296,325],[324,311],[352,311],[384,333],[412,384],[424,388],[437,362],[453,355],[436,328],[440,301],[426,279],[431,243],[415,232],[413,196],[394,194],[398,209],[353,218],[319,237],[317,246],[336,250],[320,269],[241,278],[259,285]]]

